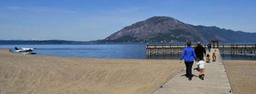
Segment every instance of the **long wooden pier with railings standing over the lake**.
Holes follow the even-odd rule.
[[[196,45],[191,45],[195,48]],[[207,50],[207,44],[203,44]],[[213,48],[218,48],[222,54],[254,54],[256,53],[256,44],[218,44],[211,45]],[[147,44],[147,55],[165,55],[165,54],[179,54],[183,52],[186,47],[184,44]]]

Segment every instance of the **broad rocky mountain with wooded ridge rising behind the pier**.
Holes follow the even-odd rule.
[[[224,42],[256,42],[256,33],[191,25],[171,17],[152,17],[127,26],[97,42],[208,42],[215,39]]]

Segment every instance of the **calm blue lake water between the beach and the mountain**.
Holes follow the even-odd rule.
[[[0,48],[36,48],[36,55],[109,58],[109,59],[179,59],[180,55],[147,56],[146,44],[85,45],[0,45]],[[255,56],[222,55],[223,60],[256,60]]]

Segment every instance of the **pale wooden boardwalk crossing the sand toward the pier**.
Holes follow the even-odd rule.
[[[211,49],[210,56],[215,49]],[[154,94],[167,94],[167,93],[233,93],[230,87],[227,73],[223,65],[219,50],[216,49],[216,62],[211,61],[205,64],[205,77],[204,80],[199,79],[199,72],[192,71],[194,77],[191,81],[186,78],[185,69],[180,71],[177,75],[166,82],[163,87],[158,88]],[[193,64],[193,69],[196,67]]]

